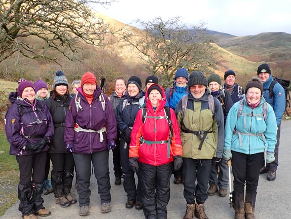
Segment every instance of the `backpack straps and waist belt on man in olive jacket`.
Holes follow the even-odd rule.
[[[181,130],[183,132],[186,132],[186,133],[195,134],[200,140],[198,150],[201,150],[202,144],[207,136],[207,133],[211,133],[212,131],[209,131],[209,130],[207,130],[207,131],[192,131],[192,130],[185,127],[183,120],[184,120],[185,113],[186,113],[187,103],[188,103],[188,95],[184,95],[182,97],[182,119],[180,121]],[[215,106],[214,106],[214,98],[211,94],[208,95],[208,104],[209,104],[209,109],[212,113],[212,118],[214,118]],[[203,135],[203,136],[201,136],[201,135]]]

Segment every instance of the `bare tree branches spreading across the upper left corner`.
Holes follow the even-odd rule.
[[[104,7],[114,1],[1,0],[0,62],[15,52],[52,61],[61,53],[75,60],[79,40],[99,45],[108,30],[108,25],[92,14],[89,5]]]

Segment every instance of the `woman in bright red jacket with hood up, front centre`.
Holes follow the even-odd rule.
[[[138,111],[131,132],[129,165],[133,171],[140,171],[145,218],[167,218],[173,163],[174,169],[183,163],[179,127],[174,111],[165,108],[162,87],[151,85],[145,98],[146,109]]]

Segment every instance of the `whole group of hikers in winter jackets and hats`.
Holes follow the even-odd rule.
[[[89,71],[72,82],[71,92],[61,70],[51,92],[42,80],[20,79],[9,95],[5,130],[19,164],[22,218],[51,214],[42,194],[53,192],[60,207],[76,203],[70,193],[74,169],[79,215],[90,213],[92,171],[101,213],[110,212],[110,150],[115,185],[123,178],[125,207],[142,209],[147,219],[167,218],[172,174],[174,184],[184,185],[183,218],[208,218],[208,196],[227,196],[230,161],[234,218],[255,218],[259,175],[276,178],[285,111],[279,83],[270,95],[273,78],[267,63],[258,67],[257,76],[243,89],[233,70],[225,72],[222,84],[219,75],[207,79],[201,71],[189,74],[179,68],[166,91],[155,76],[146,79],[144,89],[138,76],[120,77],[110,97]]]

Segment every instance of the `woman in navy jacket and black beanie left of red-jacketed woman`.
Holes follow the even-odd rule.
[[[141,201],[141,184],[135,186],[134,171],[130,168],[129,159],[129,143],[132,126],[137,112],[144,104],[145,93],[141,90],[141,80],[137,76],[129,78],[126,84],[126,94],[121,98],[116,108],[117,127],[120,130],[120,157],[121,168],[123,174],[123,187],[127,193],[126,208],[142,209]],[[139,172],[136,173],[140,180]]]

